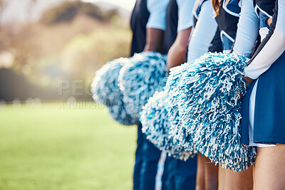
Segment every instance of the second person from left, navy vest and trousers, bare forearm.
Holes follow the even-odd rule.
[[[189,10],[192,10],[194,3],[194,0],[170,0],[167,7],[165,51],[168,69],[185,63],[187,40],[194,25]],[[197,157],[187,161],[167,157],[165,170],[167,172],[166,189],[195,189]]]

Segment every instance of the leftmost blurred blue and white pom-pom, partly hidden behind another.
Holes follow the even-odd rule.
[[[128,58],[118,58],[97,70],[91,84],[91,92],[95,102],[100,102],[108,107],[114,120],[123,125],[134,125],[136,120],[126,112],[123,93],[118,86],[120,69],[123,65],[128,64],[128,61]]]

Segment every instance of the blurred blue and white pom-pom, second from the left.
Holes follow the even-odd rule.
[[[133,118],[140,120],[142,106],[155,91],[162,91],[167,80],[166,56],[157,52],[142,52],[130,58],[120,70],[119,86],[123,101]]]

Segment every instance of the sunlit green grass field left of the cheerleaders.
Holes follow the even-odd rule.
[[[0,189],[132,189],[136,127],[94,105],[0,107]]]

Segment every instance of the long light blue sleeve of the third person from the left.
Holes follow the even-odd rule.
[[[217,22],[214,19],[214,10],[211,1],[202,4],[195,30],[188,46],[187,62],[191,62],[209,51],[209,46],[217,31]]]

